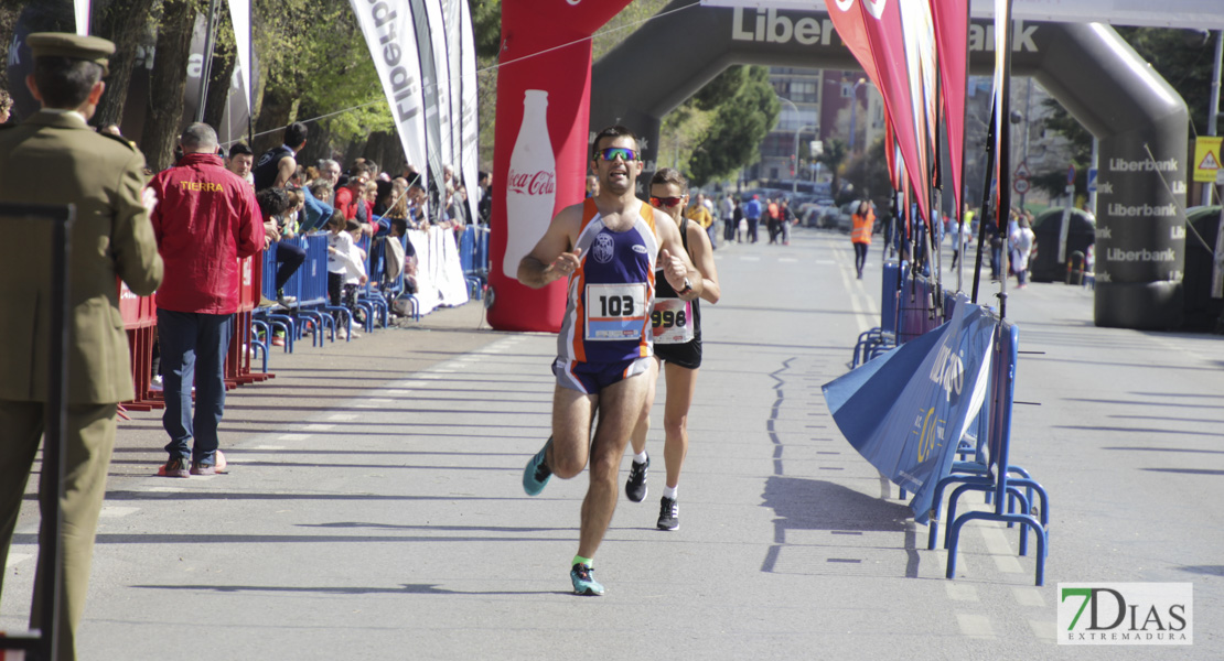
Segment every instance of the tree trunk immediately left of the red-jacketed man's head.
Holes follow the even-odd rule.
[[[154,172],[174,164],[175,138],[179,136],[184,90],[187,88],[191,31],[200,9],[197,5],[195,0],[164,0],[149,81],[148,114],[141,133],[144,160]]]

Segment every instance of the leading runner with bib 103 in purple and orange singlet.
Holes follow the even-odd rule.
[[[663,269],[685,301],[696,298],[704,282],[684,253],[676,222],[634,194],[643,165],[632,131],[601,131],[591,153],[599,197],[553,216],[518,270],[519,281],[532,288],[569,279],[553,363],[552,436],[528,462],[523,489],[535,496],[553,473],[573,478],[590,459],[578,555],[569,573],[580,595],[603,594],[592,575],[592,557],[616,511],[621,459],[649,386],[643,374],[654,364],[646,305],[654,298],[655,268]]]

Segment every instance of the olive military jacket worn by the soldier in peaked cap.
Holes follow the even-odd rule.
[[[69,345],[70,403],[133,397],[115,275],[141,296],[162,282],[148,211],[144,156],[95,133],[77,114],[35,112],[0,130],[0,203],[76,204]],[[18,249],[0,260],[0,400],[47,401],[50,329],[49,221],[0,219]],[[18,225],[21,222],[21,225]]]

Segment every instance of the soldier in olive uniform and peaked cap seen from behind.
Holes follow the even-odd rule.
[[[27,43],[34,73],[26,84],[43,110],[0,130],[0,203],[76,205],[58,635],[59,659],[71,660],[115,444],[116,403],[135,395],[115,276],[133,292],[151,294],[162,282],[162,258],[143,198],[143,155],[86,123],[102,97],[114,44],[60,33],[31,34]],[[0,287],[0,568],[43,435],[51,250],[47,224],[15,226],[9,219],[5,233],[21,236],[29,249],[10,250],[0,260],[0,281],[7,283]],[[35,628],[49,569],[39,564],[35,577]]]

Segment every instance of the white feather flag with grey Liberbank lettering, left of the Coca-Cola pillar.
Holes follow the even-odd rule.
[[[399,142],[408,163],[420,167],[421,186],[427,187],[425,167],[425,111],[421,95],[421,64],[416,50],[416,26],[408,0],[349,0],[370,46],[383,94],[390,105]]]

